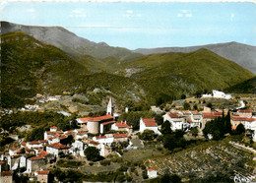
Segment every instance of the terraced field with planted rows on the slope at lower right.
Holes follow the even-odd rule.
[[[159,174],[179,174],[184,179],[200,179],[223,173],[226,176],[256,177],[255,154],[236,149],[227,141],[208,142],[164,157],[148,158],[144,163]]]

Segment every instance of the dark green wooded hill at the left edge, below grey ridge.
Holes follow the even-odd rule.
[[[72,91],[88,70],[60,49],[14,31],[1,35],[1,105],[23,106],[37,92]]]

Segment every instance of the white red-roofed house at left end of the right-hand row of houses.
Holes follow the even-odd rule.
[[[184,128],[185,119],[176,113],[166,113],[163,116],[163,121],[170,123],[171,130],[182,130]]]

